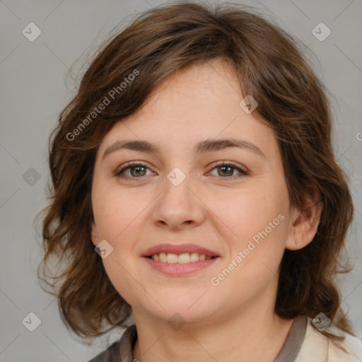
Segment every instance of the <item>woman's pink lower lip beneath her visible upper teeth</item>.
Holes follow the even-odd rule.
[[[151,267],[153,267],[153,269],[156,269],[163,274],[183,276],[209,267],[211,264],[214,264],[214,262],[216,262],[219,257],[213,257],[212,259],[202,260],[199,262],[189,262],[185,264],[158,262],[149,257],[144,257],[144,259]]]

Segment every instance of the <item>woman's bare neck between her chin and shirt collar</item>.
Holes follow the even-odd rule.
[[[274,300],[266,305],[264,298],[240,305],[222,318],[185,323],[178,330],[144,310],[133,313],[138,334],[133,356],[140,362],[272,362],[293,324],[275,315]]]

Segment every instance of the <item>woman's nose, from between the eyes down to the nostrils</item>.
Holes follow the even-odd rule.
[[[158,227],[173,230],[200,225],[206,215],[206,206],[197,187],[192,185],[190,177],[186,177],[179,185],[172,178],[170,180],[165,177],[163,190],[153,207],[151,221]]]

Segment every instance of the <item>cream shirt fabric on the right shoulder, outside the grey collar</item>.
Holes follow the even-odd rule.
[[[328,332],[343,336],[343,341],[334,341],[313,326],[308,317],[307,328],[300,352],[295,362],[361,362],[362,341],[335,326],[329,326]]]

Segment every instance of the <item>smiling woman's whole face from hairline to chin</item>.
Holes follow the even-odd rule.
[[[194,65],[100,144],[92,240],[112,250],[105,271],[134,313],[218,320],[274,298],[293,217],[276,137],[242,99],[221,60]],[[197,152],[225,139],[240,146],[204,143]],[[133,140],[158,151],[114,146]]]

